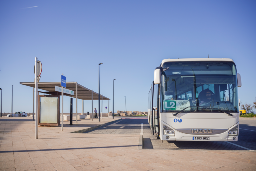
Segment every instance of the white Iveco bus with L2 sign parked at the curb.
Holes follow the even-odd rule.
[[[165,59],[148,96],[153,136],[169,141],[237,141],[240,74],[232,59]]]

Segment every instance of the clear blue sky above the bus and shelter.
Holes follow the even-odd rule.
[[[34,8],[27,8],[33,7]],[[40,82],[67,81],[111,99],[115,111],[146,111],[154,69],[166,58],[231,58],[242,77],[239,98],[255,90],[256,1],[0,1],[2,111],[32,112],[34,61]],[[69,112],[69,97],[64,97]],[[108,102],[103,102],[107,106]],[[78,112],[82,112],[78,100]],[[94,101],[97,107],[97,101]],[[112,110],[112,107],[110,107]],[[74,110],[75,111],[75,110]],[[85,101],[91,111],[91,101]],[[105,110],[103,110],[105,112]]]

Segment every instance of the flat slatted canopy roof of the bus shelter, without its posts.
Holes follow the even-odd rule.
[[[34,82],[20,82],[22,85],[26,85],[29,87],[35,88]],[[76,97],[76,84],[77,84],[77,98],[81,100],[92,100],[92,94],[93,94],[93,100],[99,99],[99,94],[78,84],[77,82],[67,82],[66,89],[74,91],[74,95],[67,95]],[[38,89],[45,90],[45,91],[55,91],[55,86],[61,87],[60,82],[39,82],[38,83]],[[47,92],[46,92],[47,94]],[[100,95],[100,99],[103,97],[103,100],[110,100],[109,98]]]

